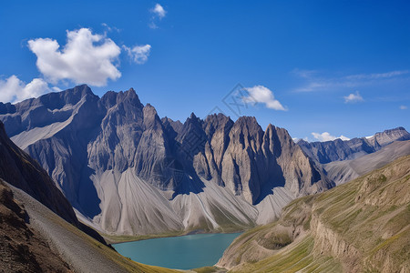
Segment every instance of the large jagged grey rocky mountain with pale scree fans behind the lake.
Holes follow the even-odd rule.
[[[263,131],[250,116],[161,119],[132,88],[99,98],[76,86],[0,111],[78,216],[108,234],[238,230],[334,185],[283,128]]]

